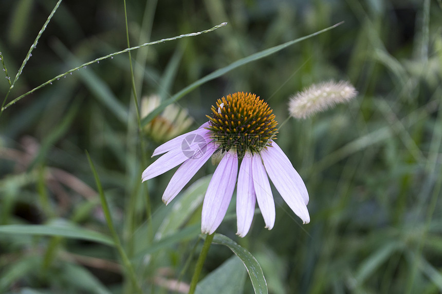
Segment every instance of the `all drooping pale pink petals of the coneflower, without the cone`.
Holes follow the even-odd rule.
[[[212,140],[211,131],[207,129],[209,123],[198,129],[177,136],[154,150],[152,156],[163,154],[142,173],[142,181],[178,166],[162,200],[169,204],[176,195],[193,178],[195,173],[219,149],[219,145]],[[191,150],[201,151],[200,156],[189,156],[182,150],[182,142],[189,135],[199,135],[204,138],[201,142],[191,142]],[[301,218],[304,224],[310,222],[307,210],[308,193],[298,172],[293,168],[281,148],[272,140],[259,153],[246,151],[238,172],[238,156],[234,149],[224,152],[223,159],[217,166],[202,205],[201,232],[212,234],[225,217],[236,178],[236,217],[238,236],[244,237],[248,233],[255,210],[256,202],[261,210],[265,226],[272,229],[275,222],[275,205],[270,188],[269,178],[281,197],[293,212]]]

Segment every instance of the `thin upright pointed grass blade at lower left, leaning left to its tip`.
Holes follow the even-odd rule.
[[[141,287],[137,282],[137,277],[135,275],[134,268],[132,266],[131,261],[127,258],[126,252],[124,251],[123,246],[121,245],[120,238],[118,237],[118,233],[115,230],[112,217],[111,217],[111,211],[109,210],[109,206],[107,205],[106,197],[104,196],[103,187],[101,186],[100,179],[98,178],[98,173],[95,169],[94,163],[90,159],[89,153],[86,151],[87,160],[89,161],[90,169],[92,170],[92,173],[94,174],[95,182],[97,184],[98,193],[100,194],[100,200],[101,200],[101,207],[103,209],[104,217],[106,218],[107,226],[109,230],[111,231],[112,238],[114,239],[114,244],[117,247],[118,253],[120,254],[120,257],[123,261],[124,267],[126,268],[127,275],[131,279],[132,286],[136,289],[136,291],[140,294],[142,294]]]

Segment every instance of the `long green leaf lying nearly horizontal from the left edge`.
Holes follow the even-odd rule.
[[[102,233],[66,225],[5,225],[0,226],[0,233],[60,236],[114,246],[112,239]]]

